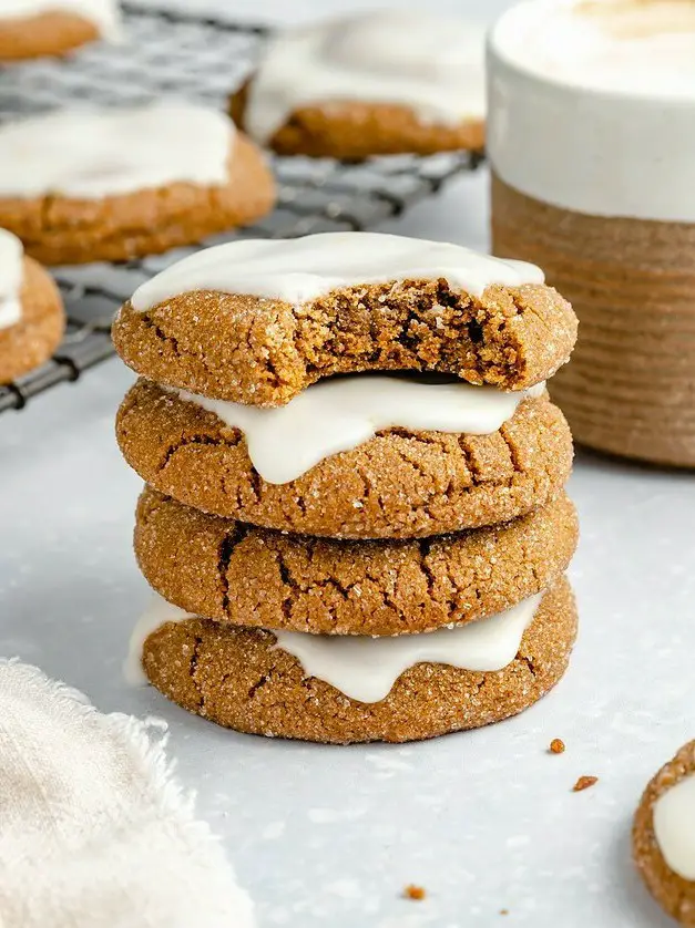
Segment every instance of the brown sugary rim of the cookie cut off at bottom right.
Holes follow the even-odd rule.
[[[662,908],[681,925],[695,926],[695,881],[671,869],[654,834],[654,803],[691,775],[695,775],[695,741],[685,744],[644,791],[635,813],[632,852],[640,876]]]

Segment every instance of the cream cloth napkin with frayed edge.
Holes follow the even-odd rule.
[[[2,928],[253,926],[222,846],[172,779],[163,728],[104,715],[0,660]]]

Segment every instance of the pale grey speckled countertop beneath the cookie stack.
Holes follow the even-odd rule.
[[[484,245],[486,185],[461,178],[390,228]],[[630,827],[647,780],[694,735],[693,476],[578,455],[580,640],[566,678],[519,718],[408,746],[243,736],[121,677],[147,596],[131,550],[140,481],[113,437],[131,379],[110,361],[0,417],[0,654],[104,711],[167,721],[260,925],[468,928],[501,909],[534,928],[671,924],[633,872]],[[553,738],[564,754],[548,753]],[[599,783],[572,793],[583,774]],[[425,901],[400,898],[409,883]]]

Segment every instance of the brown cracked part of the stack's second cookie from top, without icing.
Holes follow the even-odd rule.
[[[538,396],[492,434],[387,429],[296,480],[270,483],[238,429],[145,380],[126,394],[116,436],[140,476],[181,503],[335,538],[413,538],[508,522],[560,492],[573,454],[562,413]]]

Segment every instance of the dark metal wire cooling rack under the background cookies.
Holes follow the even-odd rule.
[[[0,121],[75,103],[129,105],[166,94],[224,107],[229,91],[251,70],[267,32],[258,25],[130,3],[124,12],[127,44],[95,44],[64,61],[32,62],[0,72]],[[204,244],[365,229],[436,193],[480,161],[480,155],[466,152],[375,158],[359,165],[274,158],[279,187],[274,213]],[[193,250],[178,248],[121,265],[52,269],[68,310],[65,338],[42,368],[0,386],[0,412],[22,409],[37,394],[76,380],[109,358],[111,320],[120,303],[143,280]]]

